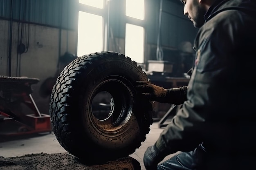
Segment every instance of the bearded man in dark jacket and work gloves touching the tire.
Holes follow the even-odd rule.
[[[147,170],[256,169],[255,1],[182,3],[184,15],[200,28],[195,65],[182,108],[147,148],[144,165]],[[138,83],[138,94],[149,100],[175,100],[170,89]],[[157,165],[177,151],[182,152]]]

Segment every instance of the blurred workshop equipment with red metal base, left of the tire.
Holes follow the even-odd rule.
[[[49,115],[40,113],[31,95],[37,78],[0,76],[0,135],[51,132]]]

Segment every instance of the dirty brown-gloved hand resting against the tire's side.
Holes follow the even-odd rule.
[[[145,97],[148,100],[158,102],[160,99],[166,97],[167,89],[151,84],[147,81],[137,81],[136,90],[139,95]]]

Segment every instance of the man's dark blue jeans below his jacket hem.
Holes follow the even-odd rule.
[[[200,144],[193,151],[181,152],[159,164],[157,170],[256,170],[255,161],[253,151],[234,155],[218,150],[210,154]]]

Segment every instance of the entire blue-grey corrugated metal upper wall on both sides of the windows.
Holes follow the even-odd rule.
[[[115,37],[124,38],[124,18],[120,13],[125,0],[111,0],[110,25]],[[156,44],[160,0],[145,0],[148,42]],[[77,30],[79,0],[1,0],[0,17]],[[11,8],[12,7],[12,8]],[[165,46],[177,46],[183,40],[193,41],[197,29],[183,15],[183,5],[178,0],[163,0],[161,41]]]

